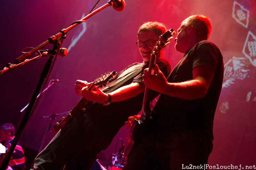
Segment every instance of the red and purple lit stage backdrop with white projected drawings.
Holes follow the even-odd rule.
[[[14,63],[23,48],[36,47],[72,22],[84,18],[96,2],[2,0],[0,70],[7,63]],[[96,8],[106,3],[101,0]],[[120,71],[130,63],[142,62],[135,42],[143,22],[159,21],[168,29],[177,30],[188,16],[203,14],[211,18],[209,41],[220,48],[225,64],[209,165],[232,164],[244,168],[255,165],[256,1],[125,0],[125,3],[123,11],[107,7],[67,33],[61,47],[68,49],[68,55],[57,57],[46,86],[52,79],[59,81],[43,93],[20,137],[21,144],[39,151],[49,143],[54,135],[47,127],[66,115],[61,114],[71,110],[80,99],[74,91],[77,79],[90,82],[104,72]],[[183,57],[174,49],[174,44],[172,40],[164,50],[164,57],[172,68]],[[52,44],[48,44],[44,49],[52,48]],[[25,113],[20,110],[29,103],[48,58],[25,63],[0,75],[0,123],[10,122],[18,128]],[[49,115],[54,114],[58,116],[52,122]],[[126,146],[126,137],[129,137],[129,130],[123,127],[103,154],[109,158],[110,154],[118,152],[121,145],[118,139],[122,138]]]

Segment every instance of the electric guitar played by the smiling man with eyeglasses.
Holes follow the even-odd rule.
[[[112,71],[111,73],[105,73],[104,75],[101,75],[101,77],[94,80],[92,85],[88,88],[88,90],[92,90],[94,86],[97,86],[97,88],[106,86],[106,83],[110,78],[112,78],[116,74],[116,71]],[[58,131],[64,126],[66,122],[68,122],[72,117],[80,113],[81,111],[85,111],[85,109],[91,107],[94,102],[88,101],[84,99],[83,97],[78,101],[78,103],[74,106],[74,108],[68,112],[66,117],[62,117],[59,122],[57,122],[53,126],[53,133],[56,135]]]

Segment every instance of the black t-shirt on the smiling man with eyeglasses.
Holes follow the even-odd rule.
[[[110,82],[115,82],[125,70],[128,70],[132,67],[136,67],[139,64],[141,63],[133,63],[129,65],[124,70],[117,73],[113,78],[111,78]],[[164,73],[164,76],[167,77],[171,70],[169,61],[162,58],[158,59],[156,61],[156,64]],[[143,70],[145,68],[148,68],[148,65],[149,62],[142,67],[139,75],[137,75],[135,78],[132,78],[130,81],[125,82],[122,86],[129,85],[132,82],[142,83],[141,76],[143,75]],[[155,95],[157,96],[158,94]],[[104,106],[100,103],[95,103],[92,107],[86,109],[86,114],[88,114],[92,118],[96,125],[101,129],[103,134],[108,135],[109,137],[113,137],[116,134],[116,132],[122,126],[124,126],[124,122],[127,121],[127,118],[129,116],[136,115],[140,112],[142,108],[143,97],[144,92],[141,92],[133,98],[119,102],[111,102],[111,104],[108,106]]]

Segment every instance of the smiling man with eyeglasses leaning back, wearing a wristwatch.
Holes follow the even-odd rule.
[[[140,26],[136,44],[143,62],[133,63],[118,72],[106,87],[94,87],[90,91],[88,87],[92,83],[76,81],[76,94],[96,103],[61,128],[36,157],[31,169],[58,170],[62,166],[65,166],[64,169],[91,168],[97,154],[108,148],[127,117],[140,112],[145,90],[142,83],[143,70],[148,68],[151,52],[164,32],[166,28],[159,22],[147,22]],[[163,49],[158,53],[156,63],[167,77],[171,67],[163,58]],[[113,87],[118,88],[110,91]],[[153,93],[152,99],[158,94]]]

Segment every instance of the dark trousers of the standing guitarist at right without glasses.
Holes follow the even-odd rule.
[[[212,151],[212,140],[194,130],[150,132],[138,144],[123,170],[182,170],[202,168]],[[198,169],[200,169],[198,168]],[[204,169],[204,168],[203,168]]]

